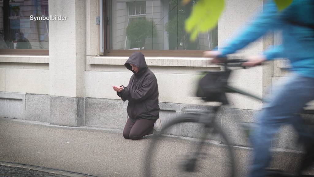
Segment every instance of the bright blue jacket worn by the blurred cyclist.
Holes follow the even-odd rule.
[[[302,24],[314,24],[313,0],[294,0],[282,12],[276,4],[269,1],[263,12],[228,46],[221,49],[223,57],[244,48],[270,30],[282,31],[282,45],[274,46],[264,52],[267,60],[288,58],[291,70],[305,77],[314,77],[314,29],[293,25],[287,19],[301,21]]]

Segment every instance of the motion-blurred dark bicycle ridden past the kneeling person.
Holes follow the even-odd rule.
[[[246,60],[225,60],[223,63],[223,70],[213,79],[218,83],[220,96],[216,98],[204,98],[207,101],[217,101],[227,104],[225,93],[239,93],[251,98],[262,100],[261,98],[249,94],[243,90],[231,87],[227,84],[232,66],[242,67],[241,64]],[[213,74],[213,72],[208,72]],[[213,88],[211,88],[213,89]],[[219,91],[218,91],[219,92]],[[194,110],[186,109],[185,113],[172,119],[170,122],[163,125],[160,134],[154,134],[152,141],[146,152],[146,161],[144,164],[145,177],[155,176],[223,176],[234,177],[236,176],[236,162],[234,155],[234,147],[231,146],[229,137],[224,130],[217,123],[217,112],[220,106],[212,106],[208,110]],[[306,110],[306,114],[314,114],[314,110]],[[178,127],[188,126],[187,124],[195,123],[198,129],[198,139],[191,139],[194,141],[185,141],[184,138],[178,138],[177,136],[171,136],[171,132]],[[200,130],[201,129],[201,130]],[[168,134],[163,135],[163,134]],[[170,135],[169,135],[170,134]],[[183,140],[182,140],[183,139]],[[186,138],[187,139],[187,138]],[[223,143],[223,145],[222,145]],[[175,144],[176,146],[171,146]],[[180,150],[171,149],[178,147]],[[168,150],[165,150],[168,148]],[[170,148],[170,150],[169,150]],[[162,150],[163,154],[158,153]],[[185,150],[185,152],[184,152]],[[220,155],[220,158],[214,155]],[[158,157],[158,158],[156,158]],[[179,159],[177,157],[180,157]],[[181,158],[185,157],[185,158]],[[210,159],[214,157],[214,159]],[[169,162],[164,162],[165,159]],[[206,165],[207,162],[211,162],[212,166]],[[213,163],[215,162],[215,163]],[[156,163],[156,164],[154,164]],[[165,163],[167,170],[163,171],[163,168],[156,169],[157,165]],[[170,165],[178,163],[179,167],[175,166],[171,169]],[[269,170],[269,176],[286,175],[279,170]],[[287,176],[287,175],[286,175]]]

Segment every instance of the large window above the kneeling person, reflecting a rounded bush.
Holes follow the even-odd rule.
[[[156,56],[200,56],[203,50],[217,46],[217,27],[199,34],[191,42],[184,22],[193,4],[182,6],[180,0],[107,0],[106,54],[128,55],[145,50]]]

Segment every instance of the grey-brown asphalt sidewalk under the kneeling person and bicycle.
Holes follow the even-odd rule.
[[[122,130],[92,127],[64,127],[33,121],[0,118],[0,161],[76,172],[99,177],[143,177],[144,155],[150,137],[125,140]],[[181,157],[191,140],[165,142],[163,158]],[[221,153],[217,146],[214,153]],[[244,176],[251,153],[249,148],[234,147],[237,173]],[[287,159],[297,161],[298,152],[276,152],[278,168],[293,169]],[[285,159],[285,160],[283,160]],[[283,163],[284,162],[284,163]],[[288,161],[289,162],[289,161]],[[160,164],[161,164],[160,163]],[[213,159],[205,163],[215,166]],[[155,167],[167,174],[169,168]],[[160,176],[163,177],[163,176]]]

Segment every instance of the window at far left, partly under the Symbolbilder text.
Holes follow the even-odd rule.
[[[48,0],[0,0],[0,53],[48,54]]]

